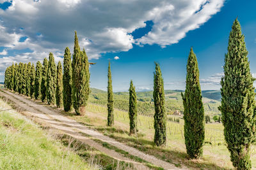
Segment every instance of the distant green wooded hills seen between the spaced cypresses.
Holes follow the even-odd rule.
[[[106,106],[107,94],[104,90],[91,89],[90,102]],[[165,106],[168,114],[173,114],[175,110],[183,111],[182,98],[180,92],[182,90],[164,90],[165,92]],[[137,92],[138,96],[138,113],[144,115],[154,114],[154,100],[153,91]],[[209,115],[219,115],[220,111],[220,90],[205,90],[202,91],[205,113]],[[114,93],[114,107],[119,110],[128,111],[129,107],[129,92],[115,92]]]

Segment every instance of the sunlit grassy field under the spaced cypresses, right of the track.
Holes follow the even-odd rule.
[[[223,125],[220,123],[206,124],[205,127],[205,145],[204,157],[199,160],[190,160],[186,155],[186,146],[184,145],[184,122],[182,117],[180,122],[168,122],[168,144],[166,147],[156,147],[152,142],[154,139],[153,117],[147,115],[138,116],[137,136],[129,136],[129,118],[125,111],[115,110],[114,127],[106,127],[107,108],[95,104],[88,104],[88,113],[85,116],[77,117],[74,113],[63,114],[74,118],[78,122],[90,124],[98,131],[105,135],[115,138],[118,141],[126,143],[129,146],[138,148],[139,150],[172,162],[179,167],[182,164],[193,169],[232,169],[230,162],[230,154],[227,150],[224,136]],[[256,147],[252,146],[252,166],[256,168]]]

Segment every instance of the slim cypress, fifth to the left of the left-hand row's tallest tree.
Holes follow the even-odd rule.
[[[41,83],[42,83],[42,64],[40,61],[36,62],[35,73],[35,99],[41,99]]]

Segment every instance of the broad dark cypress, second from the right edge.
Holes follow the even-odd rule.
[[[185,94],[181,93],[184,106],[184,137],[190,158],[198,159],[203,153],[205,138],[204,106],[199,82],[196,55],[191,48],[187,64]]]

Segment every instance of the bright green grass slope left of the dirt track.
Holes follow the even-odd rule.
[[[0,169],[95,169],[0,100]],[[5,110],[5,111],[4,111]]]

